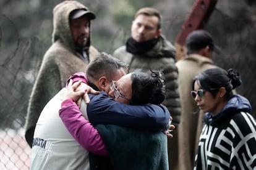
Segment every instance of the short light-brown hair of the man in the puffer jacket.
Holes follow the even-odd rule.
[[[139,15],[147,15],[147,16],[155,16],[158,17],[158,26],[157,29],[159,30],[161,28],[161,22],[162,22],[162,16],[158,10],[156,10],[153,7],[143,7],[139,9],[136,14],[134,15],[134,18],[137,18]]]

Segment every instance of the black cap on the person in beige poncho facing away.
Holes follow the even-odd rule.
[[[216,54],[220,54],[220,47],[216,46],[213,42],[213,38],[210,33],[205,30],[192,31],[186,39],[187,49],[200,50],[206,46],[209,46]]]

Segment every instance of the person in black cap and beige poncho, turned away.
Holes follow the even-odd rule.
[[[187,56],[176,62],[179,70],[179,94],[181,97],[181,123],[178,129],[179,161],[174,169],[194,168],[194,156],[203,127],[203,113],[197,107],[190,91],[193,78],[208,68],[215,68],[212,56],[220,52],[210,33],[196,30],[187,36]]]

